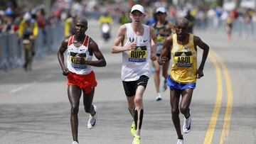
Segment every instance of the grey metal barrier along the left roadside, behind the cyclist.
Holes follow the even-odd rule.
[[[35,42],[35,58],[43,58],[50,51],[58,50],[64,40],[64,24],[55,23],[53,26],[40,30]],[[23,45],[18,45],[17,34],[0,35],[0,70],[11,70],[23,65]]]

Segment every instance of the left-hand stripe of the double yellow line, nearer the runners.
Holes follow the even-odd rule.
[[[209,52],[209,57],[210,57],[210,60],[213,62],[213,65],[215,66],[216,77],[217,77],[217,95],[216,95],[213,113],[210,118],[210,123],[208,126],[208,130],[206,132],[206,137],[205,137],[205,140],[203,141],[203,144],[210,144],[213,140],[213,133],[215,131],[218,115],[220,113],[221,101],[223,98],[223,82],[221,77],[220,66],[218,65],[218,62],[213,56],[212,50],[210,50]]]

